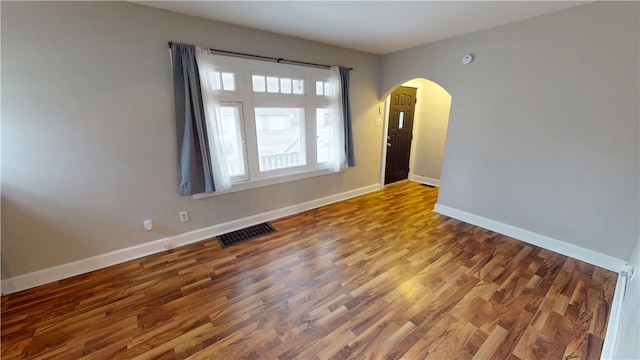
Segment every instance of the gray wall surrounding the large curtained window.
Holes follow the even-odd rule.
[[[378,56],[131,3],[1,6],[3,278],[378,183]],[[178,196],[171,40],[354,67],[358,166]]]

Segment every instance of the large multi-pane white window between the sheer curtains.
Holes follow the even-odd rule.
[[[199,66],[214,79],[215,91],[203,91],[206,106],[216,109],[216,119],[207,117],[217,129],[209,133],[217,136],[211,158],[225,164],[231,188],[341,168],[337,71],[208,56],[213,68]]]

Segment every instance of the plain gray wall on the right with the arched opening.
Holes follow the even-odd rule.
[[[383,56],[380,93],[424,77],[452,96],[438,202],[629,259],[638,11],[592,3]]]

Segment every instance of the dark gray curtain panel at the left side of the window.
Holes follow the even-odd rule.
[[[213,173],[195,46],[170,43],[180,195],[213,192]]]

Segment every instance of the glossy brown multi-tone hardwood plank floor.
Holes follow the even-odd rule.
[[[616,274],[412,182],[2,297],[3,359],[598,359]]]

